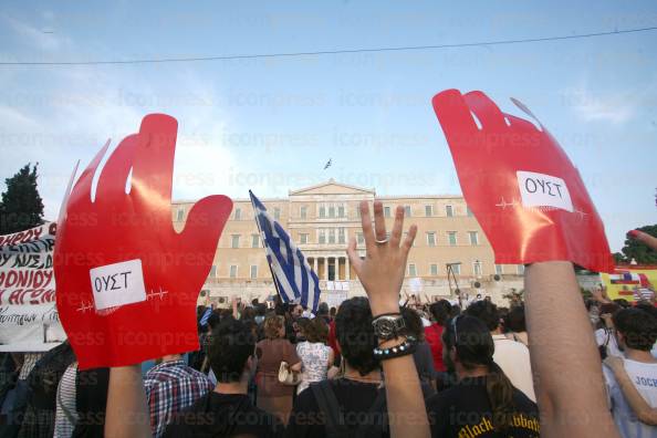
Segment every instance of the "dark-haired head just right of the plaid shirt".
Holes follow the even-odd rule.
[[[248,380],[255,371],[255,337],[241,321],[226,319],[212,332],[208,361],[219,383]]]

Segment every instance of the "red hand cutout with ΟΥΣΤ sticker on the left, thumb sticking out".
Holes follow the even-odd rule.
[[[81,369],[199,347],[196,301],[232,201],[204,198],[182,231],[174,229],[177,128],[173,117],[146,116],[139,133],[107,159],[95,198],[92,179],[108,143],[62,206],[54,249],[58,311]]]

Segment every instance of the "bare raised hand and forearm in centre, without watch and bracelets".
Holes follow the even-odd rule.
[[[373,316],[384,313],[399,314],[399,291],[406,272],[406,260],[417,233],[411,226],[408,237],[401,242],[404,208],[397,207],[395,225],[389,241],[383,205],[374,202],[374,228],[366,201],[361,202],[361,218],[367,253],[361,260],[356,251],[356,240],[350,240],[347,254],[363,288],[369,298]],[[398,344],[392,340],[382,347]],[[389,344],[389,345],[387,345]],[[390,418],[390,436],[419,438],[429,436],[429,423],[417,369],[411,355],[383,361],[386,399]]]

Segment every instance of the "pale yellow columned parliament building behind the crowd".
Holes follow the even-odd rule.
[[[364,294],[345,250],[350,239],[355,238],[364,255],[358,205],[363,200],[372,205],[375,198],[384,205],[387,230],[392,229],[398,205],[406,210],[405,229],[410,223],[418,227],[403,299],[406,294],[423,301],[449,299],[458,288],[470,296],[481,293],[504,303],[503,294],[522,289],[523,267],[494,264],[492,248],[461,196],[377,197],[374,189],[330,180],[290,191],[286,198],[261,199],[317,273],[322,301],[335,305]],[[234,199],[233,204],[200,303],[222,306],[232,295],[262,301],[275,293],[251,201]],[[176,229],[182,229],[192,205],[174,204]]]

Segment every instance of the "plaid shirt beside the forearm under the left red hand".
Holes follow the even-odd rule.
[[[171,416],[194,405],[215,387],[202,373],[182,361],[164,362],[144,376],[153,436],[161,437]]]

